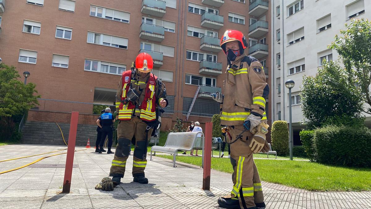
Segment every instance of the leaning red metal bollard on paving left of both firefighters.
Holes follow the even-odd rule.
[[[63,180],[62,193],[69,193],[71,188],[72,179],[72,166],[73,166],[73,155],[75,154],[76,145],[76,134],[77,134],[77,122],[79,120],[79,112],[72,112],[70,133],[68,136],[68,148],[67,148],[67,159],[65,168],[65,179]]]

